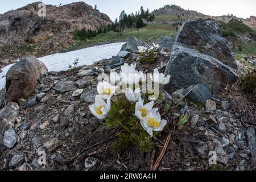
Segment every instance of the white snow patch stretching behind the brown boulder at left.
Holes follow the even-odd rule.
[[[69,69],[68,65],[72,65],[76,59],[79,59],[79,66],[91,65],[95,61],[99,61],[101,59],[109,59],[112,56],[117,55],[123,44],[125,43],[105,44],[77,51],[56,53],[54,55],[44,56],[38,59],[46,65],[48,71],[66,71]],[[7,65],[2,69],[3,72],[0,73],[0,89],[5,87],[5,75],[12,65],[13,64]]]

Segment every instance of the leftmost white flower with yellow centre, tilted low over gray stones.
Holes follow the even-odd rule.
[[[92,114],[98,119],[105,119],[108,116],[111,108],[111,97],[105,102],[103,98],[98,95],[95,97],[95,103],[89,106]]]

